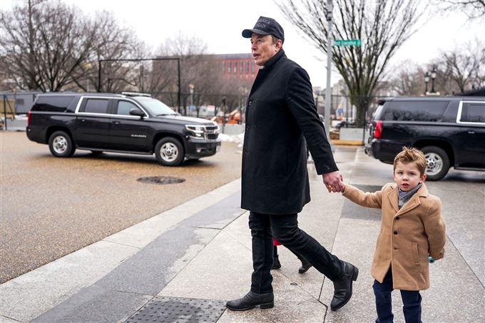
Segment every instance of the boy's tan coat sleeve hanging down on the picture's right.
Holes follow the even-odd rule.
[[[426,215],[424,215],[424,231],[428,236],[428,253],[434,260],[444,257],[444,244],[446,243],[446,230],[444,219],[441,216],[441,200],[432,200]]]

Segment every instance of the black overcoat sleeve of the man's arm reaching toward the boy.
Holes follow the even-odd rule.
[[[325,135],[325,128],[318,117],[310,77],[301,67],[295,68],[290,75],[286,101],[305,136],[317,173],[322,175],[339,170]]]

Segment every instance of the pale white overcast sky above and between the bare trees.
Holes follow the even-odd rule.
[[[428,1],[428,0],[422,0]],[[2,0],[0,8],[11,9],[19,0]],[[208,53],[250,53],[250,42],[242,29],[252,28],[259,16],[275,18],[285,29],[285,52],[310,74],[313,86],[326,85],[326,56],[306,41],[281,14],[272,0],[63,0],[76,4],[84,13],[107,9],[122,24],[132,26],[138,37],[154,48],[166,38],[182,31],[197,36],[208,46]],[[428,1],[433,5],[433,1]],[[409,59],[427,63],[439,55],[475,38],[485,39],[485,19],[469,23],[464,14],[434,16],[419,29],[392,60],[397,66]],[[332,73],[332,83],[339,80]]]

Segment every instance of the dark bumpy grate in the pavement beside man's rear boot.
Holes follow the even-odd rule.
[[[126,323],[136,322],[217,322],[225,302],[211,299],[155,297],[133,314]]]

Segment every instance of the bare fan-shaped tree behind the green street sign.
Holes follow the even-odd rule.
[[[322,53],[327,53],[328,24],[325,0],[275,0],[282,13]],[[334,0],[337,8],[332,39],[361,39],[362,46],[332,46],[335,63],[354,106],[357,124],[374,94],[384,68],[402,43],[414,34],[421,16],[419,1]]]

